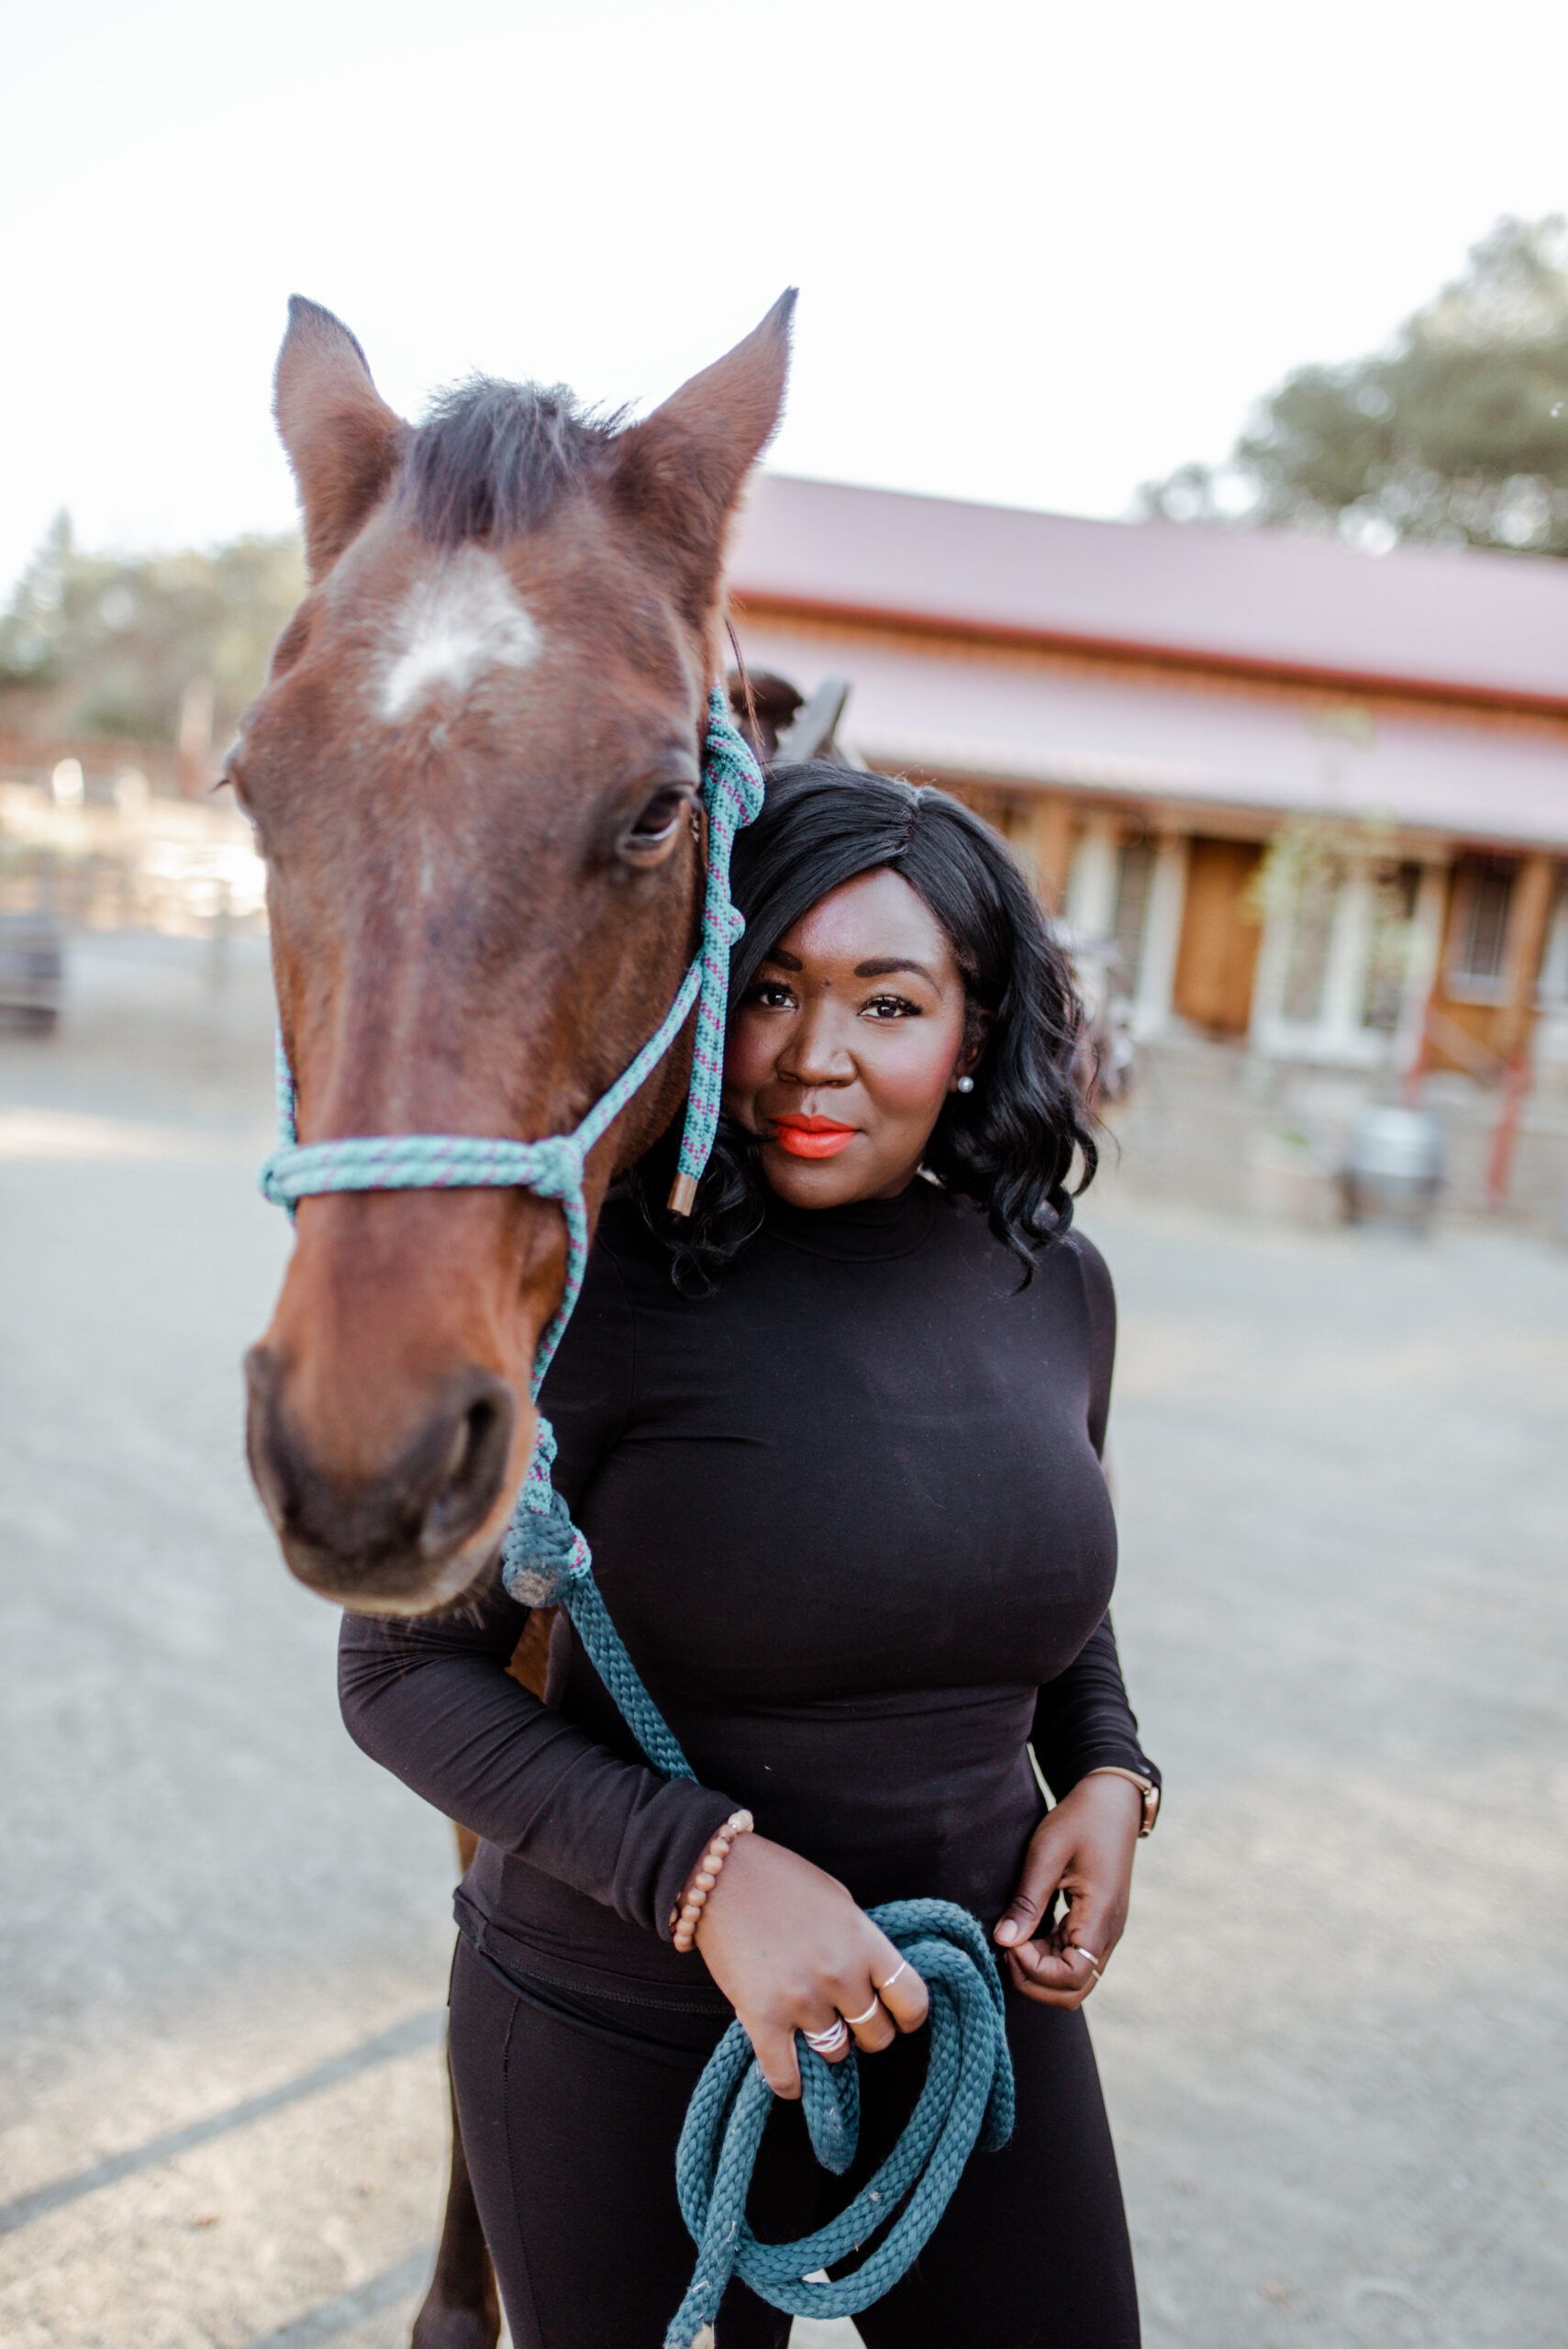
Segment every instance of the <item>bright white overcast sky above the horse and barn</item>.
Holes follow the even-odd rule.
[[[1568,209],[1540,0],[0,0],[0,587],[284,529],[284,301],[418,413],[650,404],[800,287],[772,463],[1127,512],[1500,211]]]

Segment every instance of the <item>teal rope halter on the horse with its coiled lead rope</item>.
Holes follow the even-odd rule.
[[[589,1231],[582,1177],[587,1156],[646,1083],[697,1010],[692,1078],[681,1135],[674,1203],[688,1212],[714,1149],[723,1083],[723,1034],[730,994],[730,949],[744,921],[730,900],[730,848],[742,824],[763,806],[763,773],[735,731],[723,693],[709,698],[702,756],[702,803],[709,820],[702,947],[676,1001],[629,1069],[589,1109],[570,1135],[507,1142],[477,1135],[364,1135],[343,1142],[298,1142],[293,1076],[277,1045],[279,1146],[261,1167],[263,1196],[293,1212],[322,1191],[458,1191],[523,1189],[559,1198],[566,1214],[566,1285],[561,1306],[540,1337],[530,1395],[566,1330],[587,1266]],[[669,1724],[627,1654],[594,1581],[587,1541],[552,1485],[556,1438],[540,1414],[528,1475],[502,1543],[502,1581],[523,1607],[563,1607],[587,1656],[620,1705],[622,1719],[657,1771],[695,1778]],[[676,2309],[667,2349],[714,2342],[714,2318],[732,2274],[775,2309],[793,2316],[854,2316],[897,2283],[920,2255],[941,2217],[969,2152],[1000,2147],[1012,2135],[1012,2058],[1002,2022],[1002,1985],[981,1926],[951,1900],[894,1900],[871,1910],[873,1921],[930,1987],[932,2044],[925,2086],[911,2121],[876,2178],[847,2210],[798,2243],[758,2243],[746,2227],[746,2187],[770,2112],[772,2091],[732,2022],[697,2081],[676,2154],[681,2215],[697,2243],[690,2290]],[[805,2123],[824,2168],[843,2173],[859,2135],[854,2055],[829,2065],[798,2039]],[[883,2241],[836,2283],[807,2276],[836,2264],[880,2232]]]

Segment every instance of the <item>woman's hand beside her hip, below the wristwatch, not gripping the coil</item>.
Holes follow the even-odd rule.
[[[1127,1778],[1080,1778],[1040,1820],[1012,1905],[995,1929],[1007,1971],[1026,1999],[1082,2006],[1122,1938],[1143,1799]],[[1061,1924],[1038,1936],[1056,1893]]]

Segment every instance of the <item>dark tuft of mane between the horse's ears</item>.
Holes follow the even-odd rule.
[[[413,524],[441,547],[516,538],[577,489],[622,416],[584,413],[563,383],[469,376],[439,392],[404,458]]]

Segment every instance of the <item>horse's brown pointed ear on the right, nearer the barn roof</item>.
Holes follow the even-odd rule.
[[[744,343],[617,442],[615,493],[674,559],[699,627],[718,604],[725,531],[742,484],[779,423],[793,308],[789,287]]]

